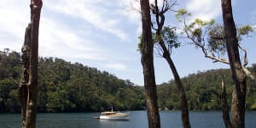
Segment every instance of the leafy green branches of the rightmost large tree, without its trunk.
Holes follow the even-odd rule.
[[[201,49],[203,55],[211,59],[213,63],[221,62],[230,65],[230,61],[226,58],[226,40],[224,26],[216,24],[214,20],[201,20],[199,18],[189,22],[191,14],[186,9],[179,9],[177,11],[177,20],[183,22],[182,35],[183,38],[188,38],[189,44],[195,45],[196,48]],[[242,48],[241,42],[244,37],[248,37],[253,32],[253,26],[245,25],[236,27],[236,40],[238,49],[243,53],[242,70],[246,75],[255,80],[255,76],[247,69],[247,50]]]

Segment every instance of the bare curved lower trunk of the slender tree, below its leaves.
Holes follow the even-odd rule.
[[[160,39],[160,46],[163,49],[163,57],[166,59],[166,61],[169,64],[169,67],[172,69],[172,74],[175,79],[175,83],[177,85],[177,90],[179,92],[180,100],[181,100],[181,110],[182,110],[182,122],[183,122],[183,128],[190,128],[190,123],[189,123],[189,108],[188,108],[188,101],[187,101],[187,96],[185,93],[185,90],[183,88],[183,84],[180,80],[180,77],[177,73],[177,69],[172,61],[172,58],[170,56],[170,53],[168,49],[166,49],[166,45],[164,44],[163,40]]]

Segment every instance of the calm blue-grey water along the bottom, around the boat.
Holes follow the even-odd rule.
[[[147,128],[146,111],[131,111],[129,121],[99,120],[100,113],[38,113],[38,128]],[[224,128],[220,111],[190,112],[194,128]],[[162,128],[180,128],[179,111],[161,111]],[[0,113],[0,128],[20,128],[19,113]],[[246,113],[246,127],[256,128],[256,111]]]

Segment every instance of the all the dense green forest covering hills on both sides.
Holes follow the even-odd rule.
[[[20,53],[0,51],[0,112],[20,112],[18,86],[20,82]],[[250,68],[256,73],[256,65]],[[60,58],[39,58],[39,112],[89,112],[108,110],[139,110],[145,108],[143,87],[130,80],[118,79],[106,71],[71,63]],[[190,110],[220,109],[218,96],[221,75],[231,102],[232,79],[229,69],[215,69],[189,74],[181,79],[188,96]],[[174,80],[157,86],[161,109],[180,107]],[[256,85],[247,79],[247,109],[256,109]]]

